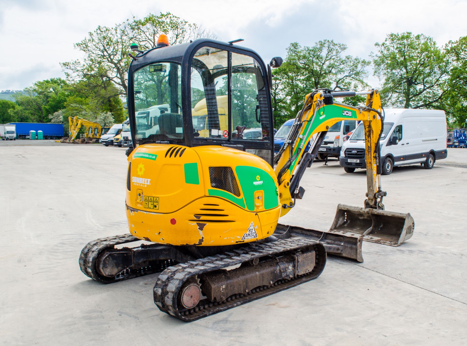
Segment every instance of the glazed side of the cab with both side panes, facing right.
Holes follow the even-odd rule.
[[[272,110],[267,73],[254,53],[210,43],[191,59],[193,146],[221,145],[272,166]]]

